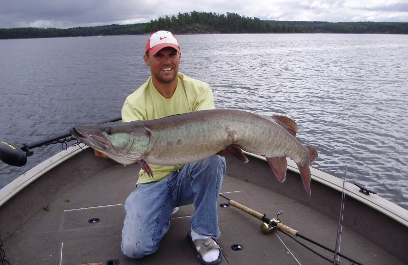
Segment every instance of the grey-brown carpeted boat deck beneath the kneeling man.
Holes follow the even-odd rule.
[[[250,180],[256,178],[253,175],[262,174],[257,164],[253,163],[262,162],[245,164],[247,172],[240,174],[244,177],[236,178],[235,165],[241,162],[234,160],[227,157],[229,169],[221,191],[224,196],[265,213],[270,218],[276,217],[276,212],[283,210],[282,223],[330,249],[335,248],[338,220],[304,206],[299,200],[268,189],[271,184],[281,185],[277,189],[287,187],[286,182],[282,184],[272,178],[272,172],[269,172],[271,177],[268,184],[251,183]],[[100,169],[89,172],[94,167]],[[157,253],[140,260],[129,259],[121,253],[119,245],[125,217],[124,201],[135,189],[139,169],[137,165],[124,167],[103,158],[95,158],[93,152],[82,152],[70,158],[70,162],[66,162],[63,168],[53,169],[37,179],[30,189],[37,189],[40,199],[36,200],[29,195],[24,197],[22,194],[9,200],[2,206],[3,211],[0,211],[2,225],[12,222],[7,221],[7,211],[10,216],[20,215],[22,218],[22,224],[18,221],[15,224],[7,223],[7,231],[4,227],[0,228],[3,249],[10,264],[115,264],[107,262],[112,259],[118,259],[121,265],[199,264],[187,241],[192,205],[180,207],[173,215],[170,230],[162,239]],[[245,174],[248,174],[247,179]],[[81,175],[86,177],[82,178]],[[312,197],[317,186],[312,183]],[[308,198],[307,193],[303,189],[301,191],[304,195],[300,196]],[[28,194],[25,189],[23,192]],[[64,203],[66,200],[69,202]],[[218,199],[219,205],[227,202],[222,197]],[[32,210],[19,209],[21,205],[29,205]],[[49,211],[43,209],[46,205]],[[338,206],[333,208],[337,218],[340,201]],[[347,204],[345,207],[347,214]],[[220,264],[333,264],[333,253],[297,238],[326,260],[281,231],[264,234],[260,229],[260,220],[233,206],[220,206],[218,216],[221,237],[217,241],[223,253]],[[89,223],[94,218],[99,219],[99,222]],[[343,226],[342,231],[342,254],[362,264],[404,264],[350,227]],[[236,250],[237,245],[242,246],[242,249]],[[340,264],[351,262],[340,258]]]

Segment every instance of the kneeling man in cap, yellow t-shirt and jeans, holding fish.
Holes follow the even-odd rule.
[[[143,59],[151,77],[126,98],[123,122],[215,108],[208,84],[179,73],[180,45],[173,34],[150,35]],[[188,239],[201,263],[218,264],[222,253],[212,237],[220,236],[216,201],[226,170],[224,157],[214,154],[187,165],[150,168],[153,178],[141,170],[136,190],[126,199],[122,252],[130,258],[156,252],[169,229],[173,208],[193,203]]]

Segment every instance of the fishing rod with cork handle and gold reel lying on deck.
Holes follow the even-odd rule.
[[[240,204],[240,203],[238,203],[238,202],[236,202],[234,200],[230,200],[230,199],[228,199],[227,197],[225,197],[222,194],[219,194],[219,196],[221,196],[222,198],[228,200],[228,204],[230,204],[231,206],[234,206],[234,207],[244,211],[245,213],[247,213],[247,214],[249,214],[249,215],[251,215],[253,217],[256,217],[259,220],[263,221],[263,223],[261,224],[261,230],[265,234],[268,234],[268,233],[274,231],[277,228],[277,229],[283,231],[287,235],[300,237],[301,239],[304,239],[305,241],[308,241],[308,242],[310,242],[310,243],[312,243],[312,244],[314,244],[316,246],[319,246],[319,247],[321,247],[321,248],[323,248],[323,249],[325,249],[327,251],[330,251],[331,253],[335,253],[335,250],[330,249],[330,248],[328,248],[328,247],[326,247],[326,246],[324,246],[324,245],[322,245],[322,244],[320,244],[320,243],[318,243],[318,242],[316,242],[316,241],[314,241],[312,239],[309,239],[307,236],[304,236],[304,235],[300,234],[299,231],[297,231],[297,230],[295,230],[295,229],[293,229],[293,228],[291,228],[291,227],[289,227],[287,225],[282,224],[281,220],[279,219],[279,215],[282,215],[283,211],[278,211],[276,213],[276,218],[271,219],[271,218],[267,217],[266,214],[262,215],[258,211],[253,210],[251,208],[248,208],[248,207],[246,207],[246,206],[244,206],[244,205],[242,205],[242,204]],[[343,258],[353,262],[353,264],[363,265],[362,263],[356,261],[355,259],[349,258],[349,257],[347,257],[347,256],[345,256],[345,255],[343,255],[343,254],[341,254],[339,252],[337,252],[337,255],[339,255],[340,257],[343,257]],[[330,262],[332,262],[332,261],[330,261]]]

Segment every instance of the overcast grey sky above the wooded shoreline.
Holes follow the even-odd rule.
[[[0,28],[131,24],[192,11],[261,20],[408,22],[408,0],[0,0]]]

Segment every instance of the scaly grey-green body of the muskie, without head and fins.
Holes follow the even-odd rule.
[[[143,121],[152,148],[145,157],[156,165],[186,164],[231,144],[265,157],[288,156],[307,162],[308,150],[272,119],[238,110],[209,110]]]

